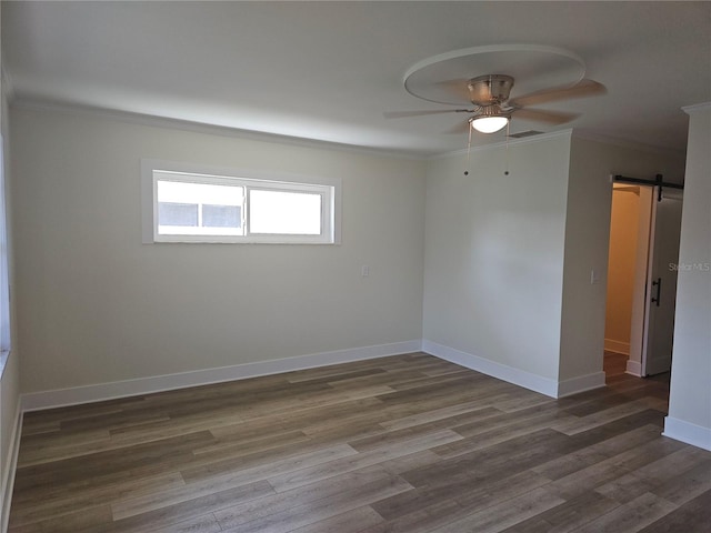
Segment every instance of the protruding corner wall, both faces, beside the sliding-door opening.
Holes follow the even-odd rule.
[[[680,182],[683,157],[568,131],[512,144],[508,177],[503,160],[429,167],[423,346],[552,396],[601,386],[610,173]]]

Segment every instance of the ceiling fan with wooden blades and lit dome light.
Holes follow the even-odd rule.
[[[482,133],[494,133],[503,129],[513,115],[524,120],[533,120],[549,124],[570,122],[579,117],[579,113],[530,109],[528,105],[592,97],[605,92],[602,83],[582,79],[572,86],[543,89],[512,99],[510,94],[513,82],[513,77],[505,74],[487,74],[470,80],[447,82],[447,84],[450,86],[449,89],[467,98],[467,100],[473,104],[473,108],[432,111],[394,111],[385,112],[383,115],[387,119],[399,119],[439,113],[469,113],[471,117],[462,124],[465,130],[471,127]]]

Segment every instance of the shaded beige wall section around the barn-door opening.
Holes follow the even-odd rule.
[[[601,378],[612,204],[610,174],[654,179],[661,173],[667,181],[680,183],[683,164],[681,154],[573,137],[560,345],[560,380],[571,384],[569,390]],[[591,283],[593,270],[597,283]]]

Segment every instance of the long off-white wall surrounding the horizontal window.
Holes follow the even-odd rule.
[[[422,162],[30,108],[11,125],[22,392],[421,339]],[[141,244],[141,158],[339,177],[342,244]]]

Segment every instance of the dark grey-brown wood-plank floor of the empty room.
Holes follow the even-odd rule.
[[[27,413],[10,532],[710,531],[711,452],[618,370],[552,400],[413,353]]]

